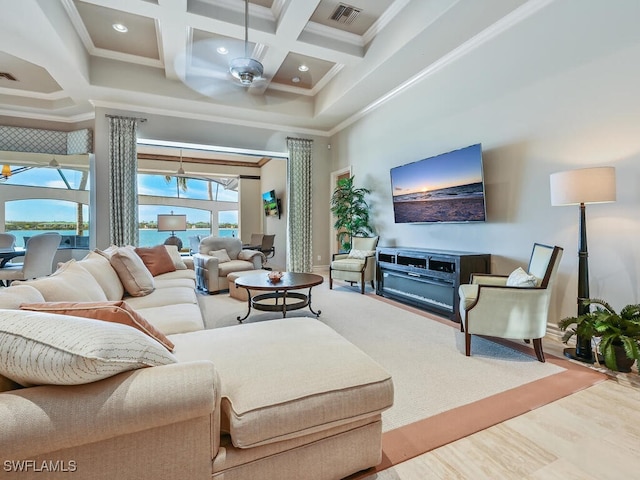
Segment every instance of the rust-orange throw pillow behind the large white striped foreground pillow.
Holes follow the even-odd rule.
[[[122,323],[146,333],[173,352],[173,342],[151,325],[145,318],[123,301],[115,302],[45,302],[23,303],[21,310],[71,315],[72,317],[93,318],[105,322]]]

